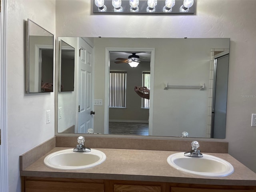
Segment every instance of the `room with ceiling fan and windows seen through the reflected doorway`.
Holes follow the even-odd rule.
[[[135,56],[135,58],[132,58]],[[110,96],[108,134],[148,135],[149,106],[143,106],[144,100],[134,91],[135,86],[145,86],[144,74],[150,74],[150,52],[110,52]],[[138,66],[131,67],[129,62],[136,60]],[[126,73],[124,82],[119,73]],[[147,79],[150,89],[150,79]],[[120,89],[122,87],[123,89]],[[123,97],[122,97],[123,96]],[[122,102],[120,102],[122,101]],[[148,100],[149,101],[149,100]],[[119,106],[124,103],[124,106]],[[149,103],[149,102],[148,102]],[[115,104],[115,105],[113,105]]]

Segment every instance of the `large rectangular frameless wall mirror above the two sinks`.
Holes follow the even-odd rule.
[[[225,138],[229,38],[58,40],[75,48],[74,91],[58,93],[58,133],[180,137],[188,132],[189,137]],[[82,41],[88,42],[93,52],[81,47]],[[138,66],[131,67],[130,58],[137,58]],[[93,66],[92,80],[79,78],[81,61]],[[125,84],[124,105],[117,107],[111,106],[110,99],[113,73],[119,76],[116,79],[124,76]],[[90,115],[94,123],[90,130],[81,129],[86,122],[80,124],[79,119],[79,92],[83,88],[79,81],[92,83]],[[136,94],[135,86],[148,87],[150,102]]]

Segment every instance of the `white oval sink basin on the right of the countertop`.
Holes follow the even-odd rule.
[[[186,157],[184,152],[175,153],[167,158],[170,166],[186,173],[206,177],[223,177],[234,172],[234,167],[221,158],[203,154],[203,157]]]

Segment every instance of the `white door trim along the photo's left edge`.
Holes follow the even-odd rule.
[[[8,156],[6,129],[6,0],[2,0],[0,13],[0,191],[8,191]]]

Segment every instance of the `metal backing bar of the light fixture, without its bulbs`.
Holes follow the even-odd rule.
[[[156,5],[156,12],[148,13],[146,11],[148,7],[147,0],[140,0],[139,2],[139,12],[130,12],[130,0],[122,0],[123,12],[114,12],[114,7],[112,6],[112,0],[105,0],[104,5],[107,7],[106,12],[99,12],[98,7],[95,5],[95,0],[93,0],[93,13],[112,13],[112,14],[194,14],[196,7],[196,0],[194,0],[194,5],[189,8],[188,12],[180,12],[180,6],[183,5],[184,0],[175,0],[175,5],[172,7],[172,12],[163,12],[163,7],[165,6],[165,0],[158,0]]]

